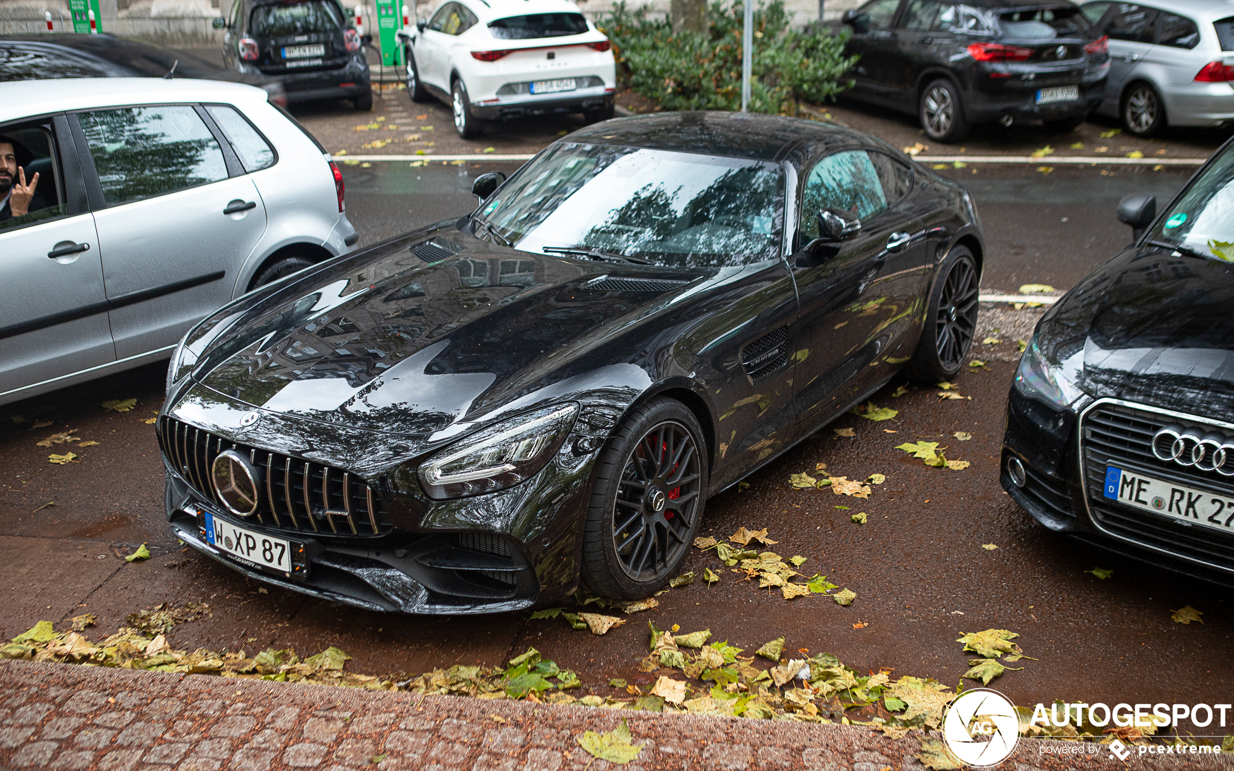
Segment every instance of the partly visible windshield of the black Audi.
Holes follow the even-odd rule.
[[[1208,167],[1157,220],[1150,241],[1234,262],[1234,148]]]

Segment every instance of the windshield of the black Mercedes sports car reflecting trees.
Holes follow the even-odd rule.
[[[586,247],[658,265],[744,265],[779,255],[782,191],[771,163],[571,142],[521,169],[481,217],[524,252]]]

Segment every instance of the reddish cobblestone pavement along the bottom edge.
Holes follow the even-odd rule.
[[[606,771],[576,736],[628,722],[631,771],[923,771],[912,735],[855,727],[547,707],[23,661],[0,662],[0,767],[101,771]],[[1022,740],[1008,771],[1218,769]]]

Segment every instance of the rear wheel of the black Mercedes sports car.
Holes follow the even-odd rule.
[[[960,371],[977,329],[980,276],[972,253],[955,247],[939,266],[929,310],[907,374],[923,382],[949,380]]]

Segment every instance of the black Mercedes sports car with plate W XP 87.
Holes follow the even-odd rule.
[[[475,191],[189,332],[158,418],[178,538],[374,609],[647,597],[708,496],[972,340],[969,195],[856,131],[618,118]]]

